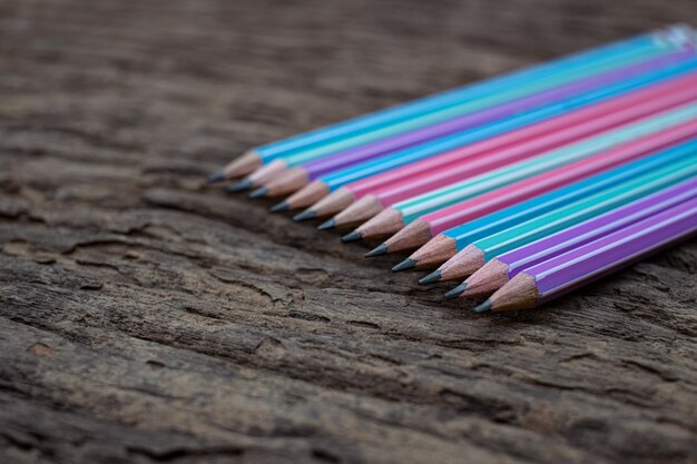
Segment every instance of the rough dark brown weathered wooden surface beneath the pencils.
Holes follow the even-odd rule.
[[[697,2],[0,2],[0,462],[697,462],[696,240],[475,317],[202,184],[674,21]]]

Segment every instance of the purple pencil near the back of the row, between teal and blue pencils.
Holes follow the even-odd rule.
[[[449,119],[443,122],[426,126],[396,136],[387,137],[374,142],[362,145],[348,150],[340,151],[307,162],[297,161],[297,166],[285,171],[281,177],[266,185],[266,190],[273,196],[295,191],[317,177],[342,169],[359,162],[371,160],[399,149],[405,149],[419,144],[453,135],[474,127],[480,127],[513,115],[530,111],[544,105],[558,103],[573,96],[609,86],[651,70],[659,69],[686,58],[694,57],[694,50],[680,51],[654,58],[626,68],[591,76],[571,83],[556,87],[532,96],[500,103],[491,108],[474,111],[464,116]],[[287,165],[286,165],[287,166]]]

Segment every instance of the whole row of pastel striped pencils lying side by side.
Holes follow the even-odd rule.
[[[697,231],[697,32],[674,26],[256,147],[209,177],[287,196],[477,312],[534,307]]]

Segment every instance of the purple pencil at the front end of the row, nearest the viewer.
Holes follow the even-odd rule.
[[[518,310],[542,305],[695,233],[697,198],[527,268],[474,310]]]

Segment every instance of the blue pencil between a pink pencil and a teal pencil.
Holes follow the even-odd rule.
[[[551,190],[544,195],[518,203],[490,215],[468,221],[461,226],[444,230],[414,251],[408,260],[414,268],[430,268],[444,263],[468,245],[481,238],[505,230],[520,223],[552,211],[563,205],[608,189],[618,182],[632,179],[661,166],[678,161],[697,152],[697,139],[670,147],[657,154],[620,165],[595,176]],[[449,272],[443,274],[444,268]],[[465,276],[457,273],[455,266],[443,264],[433,273],[419,280],[430,284],[440,280],[462,280]]]

